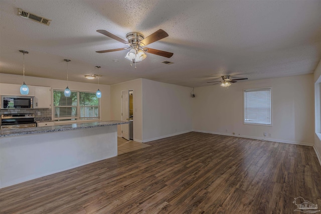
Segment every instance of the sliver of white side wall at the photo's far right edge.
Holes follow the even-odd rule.
[[[321,164],[321,60],[314,71],[314,108],[315,108],[315,135],[314,150]]]

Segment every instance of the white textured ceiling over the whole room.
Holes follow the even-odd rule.
[[[51,19],[50,26],[17,16],[18,8]],[[321,1],[98,1],[0,0],[0,73],[112,85],[137,78],[183,86],[210,85],[222,75],[249,80],[312,73],[321,59]],[[130,67],[126,47],[96,32],[124,40],[163,29],[169,37],[147,47],[174,53],[147,53]],[[119,62],[113,62],[114,59]],[[174,62],[165,65],[161,62]]]

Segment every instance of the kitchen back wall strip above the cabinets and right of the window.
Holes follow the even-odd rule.
[[[67,86],[67,81],[64,80],[54,80],[47,78],[39,77],[28,77],[25,76],[25,82],[27,85],[34,86],[47,86],[52,87],[53,89],[62,89],[64,90]],[[22,84],[23,77],[20,75],[10,75],[10,74],[0,74],[0,83],[9,83],[9,84]],[[75,91],[97,91],[97,84],[91,83],[80,83],[80,82],[68,82],[68,87],[70,90]],[[110,120],[110,86],[99,84],[99,90],[101,91],[101,120]]]

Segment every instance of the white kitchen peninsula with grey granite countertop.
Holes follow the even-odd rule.
[[[0,188],[117,156],[117,125],[75,123],[0,132]]]

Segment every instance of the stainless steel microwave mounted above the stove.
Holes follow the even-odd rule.
[[[1,96],[1,109],[34,108],[35,97],[28,96]]]

